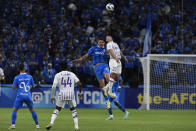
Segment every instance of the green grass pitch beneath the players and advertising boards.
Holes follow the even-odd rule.
[[[114,109],[114,120],[106,121],[106,109],[77,109],[80,131],[196,131],[195,110],[128,110],[130,116]],[[18,111],[15,131],[45,131],[53,109],[36,109],[40,129],[35,128],[28,109]],[[0,131],[7,131],[11,123],[11,108],[0,109]],[[57,117],[51,131],[74,131],[69,109]]]

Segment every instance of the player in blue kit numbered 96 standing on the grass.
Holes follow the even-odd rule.
[[[28,106],[29,111],[32,114],[33,120],[35,121],[36,128],[39,128],[37,114],[33,109],[33,101],[31,98],[30,89],[35,87],[33,78],[31,75],[25,73],[24,64],[19,65],[20,74],[14,78],[13,89],[17,89],[17,95],[14,102],[14,110],[12,112],[12,125],[9,129],[15,129],[15,122],[17,117],[17,111],[22,107],[23,102]]]

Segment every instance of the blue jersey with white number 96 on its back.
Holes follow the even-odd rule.
[[[35,86],[33,77],[29,74],[19,74],[14,78],[13,87],[17,88],[17,96],[31,96],[30,87]]]

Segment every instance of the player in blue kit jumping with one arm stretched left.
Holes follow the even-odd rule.
[[[102,39],[98,40],[98,45],[93,46],[89,49],[88,53],[83,57],[73,60],[74,63],[85,61],[90,55],[93,59],[93,65],[96,73],[97,80],[99,81],[99,86],[103,91],[104,97],[107,96],[107,87],[105,87],[105,80],[108,83],[110,74],[108,67],[108,60],[105,48],[105,42]],[[105,78],[105,79],[104,79]]]

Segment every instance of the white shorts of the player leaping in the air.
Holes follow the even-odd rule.
[[[110,66],[110,73],[121,74],[122,72],[121,62],[117,62],[115,59],[110,59],[109,66]]]

